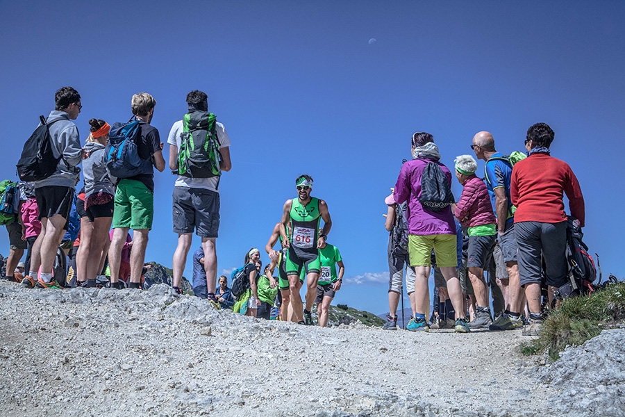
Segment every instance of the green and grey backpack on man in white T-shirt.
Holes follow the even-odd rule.
[[[178,174],[192,178],[212,178],[222,174],[219,161],[217,120],[213,113],[193,111],[183,117],[183,133],[178,151]]]

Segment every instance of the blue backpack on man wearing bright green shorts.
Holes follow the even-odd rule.
[[[117,178],[131,178],[140,174],[151,174],[152,161],[139,156],[137,140],[140,139],[141,120],[128,123],[113,123],[108,133],[106,166],[111,175]]]

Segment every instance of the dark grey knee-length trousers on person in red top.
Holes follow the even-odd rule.
[[[540,283],[541,254],[547,270],[547,285],[560,287],[567,282],[567,222],[519,222],[515,224],[519,245],[521,286]]]

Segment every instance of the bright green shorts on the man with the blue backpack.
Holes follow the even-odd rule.
[[[154,193],[141,181],[122,179],[115,191],[113,229],[152,229]]]

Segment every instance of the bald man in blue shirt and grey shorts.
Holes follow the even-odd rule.
[[[497,217],[497,240],[503,254],[503,261],[508,270],[508,279],[501,278],[501,284],[508,286],[508,300],[506,311],[499,316],[490,330],[512,330],[523,327],[520,318],[522,290],[519,283],[519,267],[517,265],[517,240],[515,238],[515,207],[510,201],[510,178],[512,164],[508,157],[497,152],[494,138],[487,131],[476,133],[473,137],[471,149],[478,159],[486,161],[485,175],[488,194],[492,209]],[[495,256],[497,259],[497,256]]]

